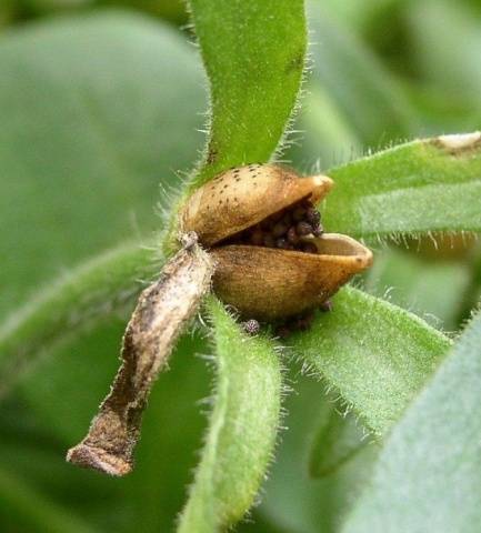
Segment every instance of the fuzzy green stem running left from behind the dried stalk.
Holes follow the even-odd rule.
[[[127,244],[64,275],[12,314],[0,329],[0,394],[42,354],[124,309],[138,280],[160,270],[151,249]]]

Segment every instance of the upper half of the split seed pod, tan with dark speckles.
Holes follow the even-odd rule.
[[[181,230],[211,247],[301,199],[319,202],[332,188],[325,175],[299,177],[279,164],[228,170],[198,189],[181,212]]]

